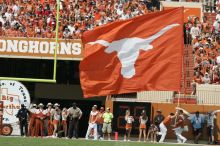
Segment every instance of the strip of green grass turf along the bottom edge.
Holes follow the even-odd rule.
[[[158,144],[124,141],[93,141],[52,138],[0,137],[0,146],[180,146],[179,144]],[[186,145],[181,145],[186,146]]]

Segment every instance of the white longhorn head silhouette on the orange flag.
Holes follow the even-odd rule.
[[[150,50],[153,49],[153,46],[150,44],[155,39],[163,35],[165,32],[170,30],[173,27],[179,26],[180,24],[171,24],[167,25],[161,29],[156,34],[142,39],[138,37],[124,38],[121,40],[113,41],[111,43],[105,40],[97,40],[95,42],[89,42],[90,45],[101,44],[105,46],[105,52],[110,54],[114,51],[117,52],[117,56],[122,64],[121,75],[124,78],[132,78],[135,75],[134,64],[139,56],[140,50]]]

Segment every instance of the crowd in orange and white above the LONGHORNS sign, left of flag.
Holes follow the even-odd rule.
[[[158,0],[61,0],[59,38],[78,39],[82,32],[112,21],[159,10]],[[55,0],[0,0],[0,35],[54,38]]]

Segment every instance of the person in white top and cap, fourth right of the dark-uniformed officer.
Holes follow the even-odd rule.
[[[60,120],[61,120],[61,111],[60,111],[60,105],[58,103],[54,104],[54,110],[51,113],[51,119],[53,119],[53,137],[57,137],[57,132],[58,132],[58,126],[60,125]]]

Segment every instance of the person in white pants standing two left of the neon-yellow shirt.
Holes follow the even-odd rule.
[[[92,107],[92,111],[90,112],[90,116],[89,116],[89,126],[86,132],[86,139],[89,139],[89,135],[93,129],[93,136],[94,136],[94,140],[98,139],[98,134],[97,134],[97,115],[98,115],[98,111],[97,111],[97,105],[94,105]]]

